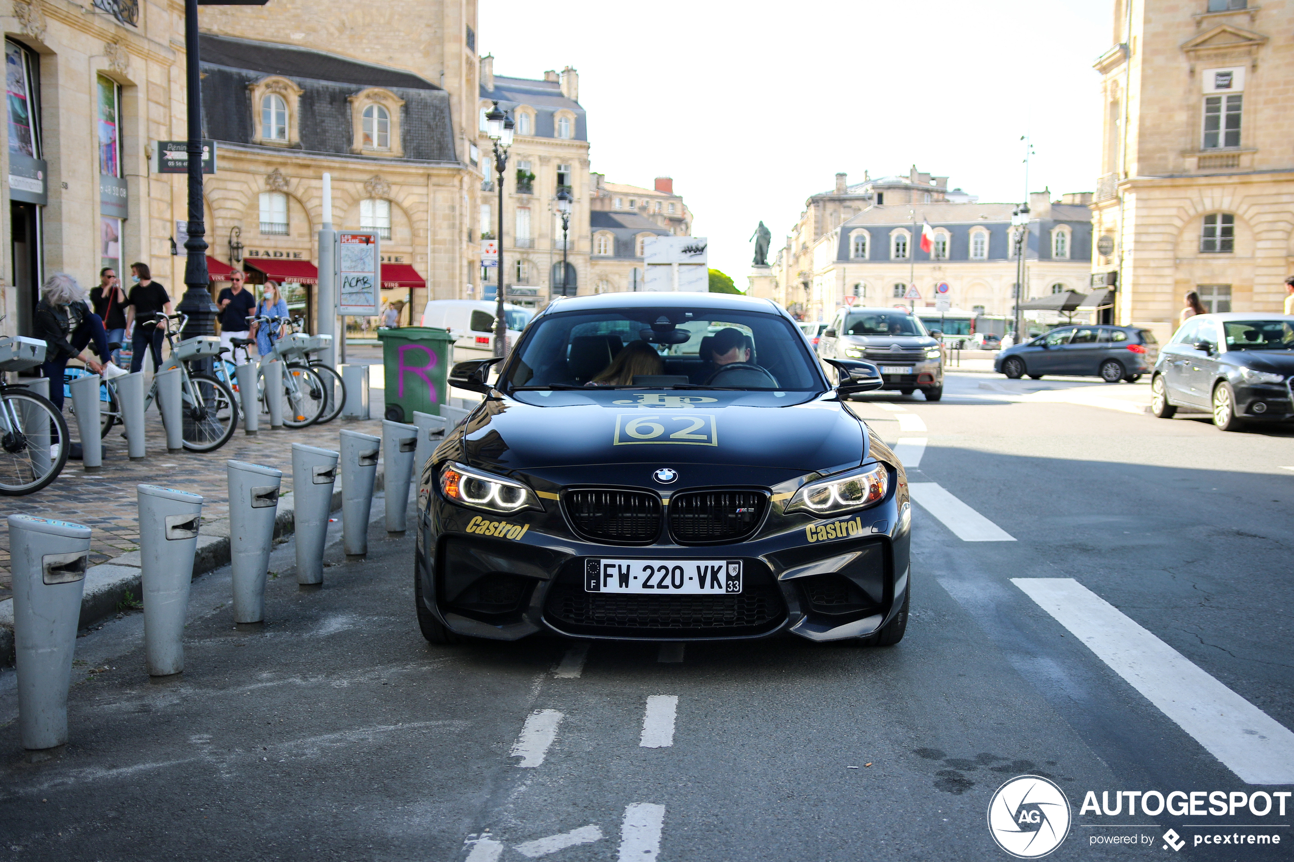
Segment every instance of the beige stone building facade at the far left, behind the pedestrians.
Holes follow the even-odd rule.
[[[39,283],[57,271],[93,287],[102,266],[142,260],[179,297],[168,237],[184,177],[153,174],[149,158],[153,141],[184,137],[184,4],[4,0],[0,25],[0,332],[30,335]]]

